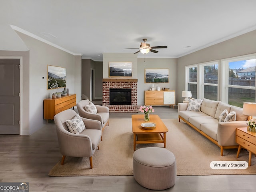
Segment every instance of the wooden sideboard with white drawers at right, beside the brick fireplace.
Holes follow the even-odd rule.
[[[145,105],[175,105],[175,91],[145,91]]]

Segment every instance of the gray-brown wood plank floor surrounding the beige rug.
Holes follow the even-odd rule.
[[[154,107],[155,108],[155,107]],[[160,118],[178,118],[177,109],[156,107]],[[112,113],[110,118],[130,118]],[[188,157],[189,158],[189,157]],[[133,176],[49,177],[61,159],[54,123],[31,136],[0,135],[0,182],[29,182],[30,192],[148,192]],[[146,176],[145,176],[146,177]],[[177,176],[172,192],[254,192],[256,175]]]

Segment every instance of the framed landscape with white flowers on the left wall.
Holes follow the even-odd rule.
[[[47,89],[66,87],[66,68],[47,65]]]

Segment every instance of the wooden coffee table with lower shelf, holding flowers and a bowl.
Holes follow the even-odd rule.
[[[144,115],[132,115],[133,148],[136,150],[136,144],[163,143],[166,148],[167,127],[158,115],[150,114],[149,122],[155,123],[156,128],[146,130],[141,127],[144,121]]]

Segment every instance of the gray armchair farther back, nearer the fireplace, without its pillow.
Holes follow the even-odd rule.
[[[106,106],[95,105],[97,108],[97,113],[90,113],[85,110],[85,106],[91,104],[88,99],[82,100],[76,104],[78,113],[81,117],[87,119],[94,119],[98,120],[101,123],[102,131],[104,130],[105,126],[108,126],[108,119],[109,119],[109,108]],[[102,140],[102,138],[101,138]]]

